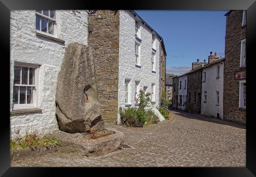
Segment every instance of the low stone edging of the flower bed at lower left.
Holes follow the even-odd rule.
[[[54,145],[10,150],[10,161],[30,158],[37,155],[52,153],[56,151],[57,148]]]

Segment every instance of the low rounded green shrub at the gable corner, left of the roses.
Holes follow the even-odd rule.
[[[143,127],[146,122],[144,111],[136,107],[128,107],[126,109],[119,108],[121,123],[130,127]]]

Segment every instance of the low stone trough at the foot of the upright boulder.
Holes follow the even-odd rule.
[[[109,128],[106,133],[109,132],[113,134],[97,139],[91,139],[91,134],[70,134],[63,131],[54,133],[54,136],[61,141],[61,151],[78,153],[81,156],[100,156],[121,149],[124,143],[124,134],[121,131]],[[103,135],[104,132],[99,132],[99,134]]]

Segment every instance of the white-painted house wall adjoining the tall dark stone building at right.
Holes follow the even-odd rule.
[[[222,63],[222,64],[221,64]],[[224,61],[203,69],[206,72],[206,81],[202,82],[202,95],[201,95],[201,114],[206,116],[217,117],[223,119],[223,74],[224,74]],[[217,76],[217,65],[220,65],[219,78]],[[204,74],[202,74],[202,81]],[[207,101],[204,102],[204,91],[207,92]],[[216,101],[216,91],[219,91],[219,105]]]

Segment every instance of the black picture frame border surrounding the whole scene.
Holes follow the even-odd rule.
[[[83,0],[1,0],[0,2],[0,34],[1,34],[1,49],[2,54],[5,54],[6,57],[2,55],[2,61],[5,62],[5,78],[9,81],[8,73],[8,61],[7,58],[10,55],[10,10],[18,10],[18,9],[163,9],[163,10],[230,10],[230,9],[246,9],[247,10],[247,56],[248,63],[251,65],[247,65],[247,67],[252,67],[253,64],[250,59],[253,59],[252,53],[255,50],[255,41],[256,41],[256,2],[255,0],[178,0],[178,1],[168,1],[168,0],[158,0],[158,1],[127,1],[125,3],[111,3],[109,1],[83,1]],[[223,14],[224,15],[224,14]],[[206,24],[209,25],[209,24]],[[254,49],[254,50],[253,50]],[[7,66],[6,66],[7,65]],[[252,71],[247,69],[247,85],[250,76],[252,75]],[[250,87],[248,87],[250,88]],[[247,94],[249,91],[249,95],[252,93],[247,90]],[[9,91],[6,88],[6,92]],[[2,93],[6,93],[2,92]],[[9,95],[5,95],[6,99],[9,100]],[[248,97],[247,101],[250,102],[252,98]],[[4,111],[4,115],[2,115],[2,131],[1,131],[1,151],[0,151],[0,175],[2,176],[53,176],[53,174],[58,175],[66,175],[67,172],[71,172],[75,175],[83,174],[88,175],[89,172],[98,173],[100,170],[104,171],[104,174],[119,174],[119,175],[133,175],[134,173],[131,170],[140,170],[141,168],[10,168],[9,164],[9,119],[7,110],[9,110],[9,106],[5,104],[7,101],[4,101],[2,105],[2,110]],[[247,104],[247,126],[246,126],[246,167],[212,167],[212,168],[161,168],[161,173],[167,172],[167,174],[171,175],[177,173],[179,175],[188,174],[192,176],[255,176],[256,175],[256,132],[254,124],[254,116],[252,114],[248,114],[248,110],[250,110],[250,104]],[[249,117],[250,116],[250,117]],[[4,122],[5,120],[6,122]],[[50,164],[49,164],[50,165]],[[116,170],[120,170],[117,172]],[[144,169],[145,170],[145,169]],[[147,172],[151,171],[159,171],[156,168],[147,168]]]

